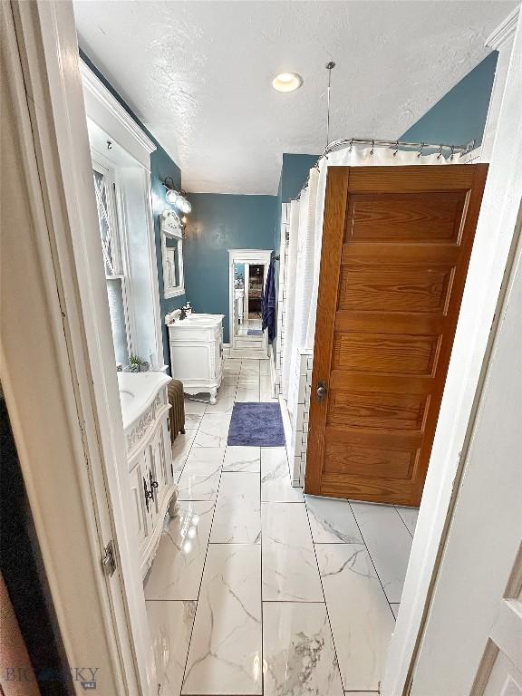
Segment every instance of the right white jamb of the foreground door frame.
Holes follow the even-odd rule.
[[[420,636],[451,522],[452,503],[458,493],[461,453],[477,408],[491,327],[517,234],[522,194],[521,66],[522,31],[518,19],[382,696],[403,696],[409,692]],[[447,636],[446,640],[450,638]]]

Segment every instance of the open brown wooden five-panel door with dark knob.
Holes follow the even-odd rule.
[[[419,505],[487,171],[329,170],[306,492]]]

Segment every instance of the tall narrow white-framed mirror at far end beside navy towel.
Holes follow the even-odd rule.
[[[270,250],[229,249],[230,355],[268,357],[263,295]]]

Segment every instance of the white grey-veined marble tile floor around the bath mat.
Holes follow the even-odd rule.
[[[304,496],[285,448],[227,447],[235,401],[270,401],[267,361],[230,360],[186,401],[179,515],[145,581],[161,696],[372,696],[417,510]]]

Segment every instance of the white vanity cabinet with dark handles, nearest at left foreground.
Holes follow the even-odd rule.
[[[163,372],[119,372],[118,382],[131,488],[129,524],[144,577],[156,555],[170,502],[176,498],[167,394],[170,377]]]

